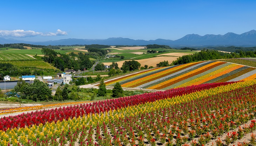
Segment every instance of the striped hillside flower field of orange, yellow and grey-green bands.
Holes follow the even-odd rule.
[[[256,68],[221,61],[201,61],[177,66],[155,68],[115,80],[106,81],[106,86],[119,82],[126,88],[171,89],[228,81],[256,79]]]

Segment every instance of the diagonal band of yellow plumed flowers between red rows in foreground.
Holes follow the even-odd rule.
[[[66,132],[67,128],[70,128],[71,131],[76,131],[77,129],[81,130],[83,126],[90,127],[92,125],[95,127],[97,123],[105,122],[108,124],[109,120],[114,121],[115,118],[123,118],[125,116],[136,116],[139,112],[151,112],[160,108],[170,107],[170,105],[189,102],[197,98],[203,98],[211,95],[215,95],[222,92],[228,92],[241,87],[246,87],[256,84],[256,80],[250,80],[245,82],[233,83],[225,86],[220,86],[216,88],[211,88],[208,90],[203,90],[200,92],[194,92],[191,94],[186,94],[182,96],[176,96],[174,98],[167,98],[164,100],[158,100],[155,102],[148,102],[146,104],[134,105],[132,107],[121,108],[117,110],[110,110],[109,112],[100,113],[100,114],[88,114],[77,119],[69,119],[58,122],[46,123],[45,125],[40,124],[39,126],[33,125],[31,127],[25,127],[20,129],[7,130],[6,132],[0,131],[0,145],[7,145],[8,143],[25,144],[28,142],[28,139],[41,139],[47,135],[47,137],[52,137],[53,133],[60,136],[62,131]]]

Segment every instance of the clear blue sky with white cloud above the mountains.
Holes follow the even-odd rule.
[[[256,29],[255,0],[12,0],[0,5],[0,37],[25,41],[176,40]]]

